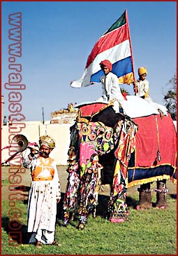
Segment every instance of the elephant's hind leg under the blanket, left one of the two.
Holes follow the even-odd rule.
[[[136,210],[145,210],[145,209],[149,209],[152,206],[151,203],[151,191],[152,189],[150,189],[151,187],[151,183],[146,183],[146,184],[142,184],[140,185],[140,189],[138,189],[139,191],[139,203],[138,206],[136,206]]]

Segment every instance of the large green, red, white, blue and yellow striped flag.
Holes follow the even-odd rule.
[[[73,81],[71,86],[81,88],[100,83],[103,70],[99,64],[106,59],[112,63],[112,72],[118,76],[119,83],[133,83],[135,76],[127,11],[96,42],[88,57],[84,74],[81,79]]]

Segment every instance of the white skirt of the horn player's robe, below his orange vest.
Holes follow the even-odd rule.
[[[44,244],[54,241],[57,215],[57,196],[52,180],[31,183],[28,203],[28,232],[30,243],[36,240]]]

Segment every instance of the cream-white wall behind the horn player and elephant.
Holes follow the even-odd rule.
[[[69,122],[69,119],[68,119]],[[70,119],[70,123],[51,123],[45,121],[43,124],[40,121],[27,121],[24,123],[14,123],[13,126],[1,126],[1,149],[9,145],[8,140],[16,134],[22,134],[27,137],[29,142],[37,142],[41,135],[50,135],[56,142],[56,148],[53,149],[50,156],[52,156],[57,165],[67,165],[68,159],[68,147],[70,144],[70,127],[75,123],[75,119]],[[175,128],[177,130],[177,121],[174,121]],[[24,127],[25,126],[25,127]],[[29,154],[29,149],[25,150],[23,156]],[[9,149],[3,149],[1,151],[1,163],[5,162],[10,156]],[[11,161],[10,163],[15,163]]]

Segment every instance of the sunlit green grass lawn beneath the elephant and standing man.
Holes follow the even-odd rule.
[[[34,255],[34,254],[64,254],[64,255],[176,255],[176,199],[167,195],[168,208],[165,210],[134,210],[131,205],[138,201],[138,196],[128,198],[131,213],[128,222],[111,223],[104,215],[91,215],[82,231],[77,229],[78,220],[73,220],[64,227],[61,217],[57,220],[56,240],[61,246],[44,245],[35,248],[29,245],[27,234],[27,204],[16,202],[16,208],[22,210],[22,245],[8,245],[8,210],[7,201],[2,201],[2,228],[1,228],[1,254],[2,255]],[[153,196],[153,200],[156,197]],[[103,204],[104,206],[104,204]],[[100,212],[102,210],[102,204]],[[105,208],[103,208],[105,213]]]

